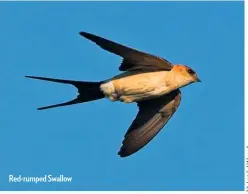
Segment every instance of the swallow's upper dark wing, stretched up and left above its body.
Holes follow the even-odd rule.
[[[80,35],[95,42],[101,48],[123,57],[123,61],[119,67],[120,71],[169,71],[172,69],[172,64],[166,59],[137,51],[87,32],[80,32]]]

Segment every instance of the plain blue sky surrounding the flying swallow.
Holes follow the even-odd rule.
[[[243,190],[243,2],[0,3],[0,190]],[[104,99],[37,111],[76,96],[25,75],[98,81],[121,59],[84,30],[183,63],[201,84],[182,89],[161,133],[117,155],[135,104]],[[8,175],[72,176],[72,183],[9,183]]]

